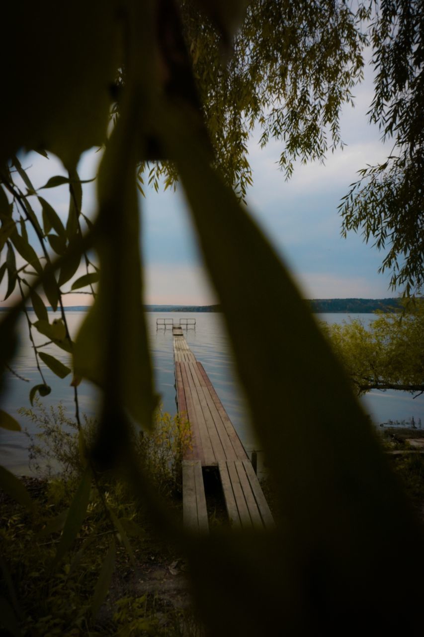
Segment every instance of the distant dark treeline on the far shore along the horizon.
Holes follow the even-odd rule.
[[[400,299],[306,299],[315,313],[372,313],[381,311],[399,311]],[[88,305],[69,306],[67,310],[85,311]],[[265,308],[266,309],[266,308]],[[0,307],[0,311],[8,310]],[[27,308],[32,310],[32,307]],[[52,308],[48,307],[48,311]],[[220,312],[220,305],[146,305],[146,312]]]

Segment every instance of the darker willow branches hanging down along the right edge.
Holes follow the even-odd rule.
[[[424,282],[424,12],[420,0],[376,3],[369,25],[376,71],[371,122],[393,139],[386,161],[367,166],[341,204],[343,233],[362,229],[387,252],[379,271],[407,296]]]

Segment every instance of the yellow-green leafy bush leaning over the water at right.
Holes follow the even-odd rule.
[[[371,389],[424,391],[424,301],[404,314],[379,314],[369,327],[360,320],[325,324],[358,394]]]

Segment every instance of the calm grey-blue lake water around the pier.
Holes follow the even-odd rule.
[[[74,336],[76,331],[78,331],[78,326],[84,315],[85,312],[81,311],[67,312],[71,336]],[[178,322],[183,317],[195,318],[195,329],[187,329],[185,331],[188,345],[195,357],[202,362],[206,369],[206,373],[208,373],[248,453],[257,448],[255,436],[251,431],[248,413],[244,407],[242,392],[234,373],[229,341],[223,328],[222,315],[218,313],[149,312],[146,317],[150,332],[155,385],[157,392],[162,396],[163,410],[171,414],[176,412],[173,338],[171,329],[157,329],[156,320],[157,318],[174,318]],[[316,317],[329,323],[339,323],[348,319],[346,314],[319,314]],[[372,314],[351,315],[351,317],[360,318],[364,324],[369,324],[375,318]],[[31,318],[35,320],[35,317]],[[1,408],[16,417],[22,427],[27,427],[30,432],[34,433],[34,426],[25,417],[18,415],[17,410],[22,406],[26,408],[31,406],[29,403],[29,390],[32,385],[40,383],[41,380],[39,379],[24,321],[22,321],[20,333],[22,334],[22,342],[20,343],[17,357],[13,362],[13,369],[20,376],[27,378],[29,382],[23,382],[16,376],[9,374],[6,390],[1,401]],[[46,338],[36,333],[36,331],[34,331],[34,338],[36,338],[37,345],[46,341]],[[69,355],[54,345],[47,346],[45,352],[55,355],[65,364],[69,364]],[[71,417],[74,413],[74,396],[73,389],[69,387],[70,377],[60,380],[49,369],[43,369],[43,372],[45,373],[46,382],[52,387],[52,393],[43,398],[43,404],[50,406],[62,401],[68,415]],[[87,415],[95,415],[97,404],[99,403],[97,390],[90,383],[83,382],[78,387],[78,395],[80,411]],[[424,395],[413,399],[413,396],[406,392],[372,391],[364,396],[362,401],[365,410],[371,414],[376,424],[388,422],[388,420],[401,422],[402,420],[410,420],[411,417],[414,417],[417,424],[420,419],[424,423]],[[29,473],[26,445],[27,438],[23,433],[0,429],[0,464],[18,474]]]

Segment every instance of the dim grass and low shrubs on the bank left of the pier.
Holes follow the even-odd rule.
[[[0,497],[0,597],[6,609],[0,622],[10,634],[31,637],[200,635],[178,549],[162,543],[143,503],[136,503],[132,492],[113,475],[104,473],[92,483],[78,537],[53,568],[64,516],[81,475],[78,433],[62,407],[46,410],[37,403],[26,414],[38,427],[29,443],[31,463],[39,475],[22,478],[35,504],[32,513],[7,496]],[[87,420],[87,440],[94,429],[95,422]],[[176,515],[182,510],[179,467],[190,444],[187,431],[187,421],[158,413],[152,434],[138,434],[134,441],[140,461]],[[125,538],[111,523],[110,511]],[[115,569],[106,601],[94,614],[93,601],[112,538],[117,547]]]

